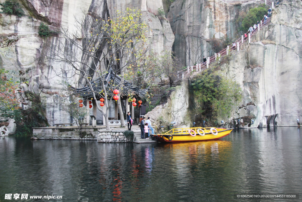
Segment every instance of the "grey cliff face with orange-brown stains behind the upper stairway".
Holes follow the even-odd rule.
[[[260,3],[227,2],[177,0],[170,6],[168,19],[175,34],[173,50],[183,65],[191,66],[200,63],[202,56],[214,55],[209,39],[219,39],[226,35],[236,38],[236,18],[239,12],[246,12]],[[199,57],[196,58],[196,55]]]

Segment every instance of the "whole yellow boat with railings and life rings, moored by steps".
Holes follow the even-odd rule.
[[[215,127],[191,127],[174,128],[165,134],[152,135],[152,139],[158,142],[192,142],[218,140],[227,136],[234,128]]]

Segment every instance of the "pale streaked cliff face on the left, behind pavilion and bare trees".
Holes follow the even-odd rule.
[[[169,21],[156,16],[157,9],[162,7],[161,0],[22,0],[21,2],[25,16],[2,14],[0,18],[2,38],[6,41],[11,40],[10,45],[4,42],[0,44],[0,67],[9,70],[12,75],[18,75],[19,71],[25,74],[24,76],[28,78],[28,85],[24,84],[25,91],[33,91],[36,94],[42,91],[40,95],[46,105],[50,125],[72,121],[59,106],[56,106],[50,96],[61,88],[58,83],[62,78],[58,77],[56,72],[66,71],[68,67],[62,62],[45,61],[41,56],[41,52],[51,54],[56,51],[51,44],[58,41],[65,43],[65,39],[61,36],[52,36],[51,44],[46,45],[45,40],[38,36],[41,22],[48,24],[52,30],[62,26],[69,31],[77,31],[75,18],[89,19],[90,16],[97,15],[107,19],[114,17],[117,10],[125,11],[127,7],[139,8],[142,11],[142,21],[151,28],[148,33],[151,49],[161,52],[170,49],[174,42]],[[70,48],[68,44],[63,48],[67,53],[78,54],[81,57],[81,50]],[[24,105],[23,108],[26,109],[27,106],[30,105]]]

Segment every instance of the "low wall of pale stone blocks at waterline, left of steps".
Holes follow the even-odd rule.
[[[98,142],[114,143],[114,142],[133,142],[133,138],[128,139],[124,136],[123,130],[99,130]]]

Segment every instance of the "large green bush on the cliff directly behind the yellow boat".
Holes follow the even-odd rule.
[[[204,70],[191,79],[189,88],[197,102],[194,112],[201,120],[195,122],[200,126],[205,119],[208,125],[217,125],[217,116],[229,117],[232,108],[241,100],[239,84],[221,75],[217,67]]]

